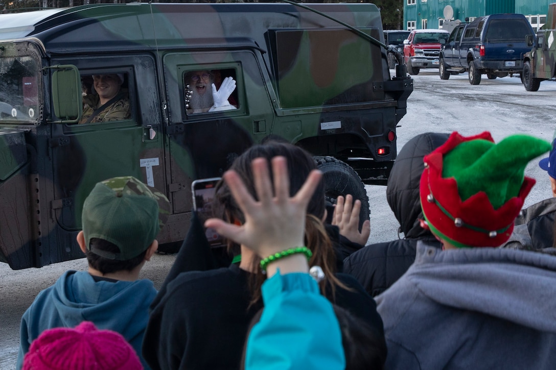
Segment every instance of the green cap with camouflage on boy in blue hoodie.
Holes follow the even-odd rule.
[[[164,194],[132,176],[99,182],[85,199],[82,213],[87,249],[108,259],[126,261],[146,251],[170,216]],[[91,248],[91,238],[115,244],[120,253]]]

